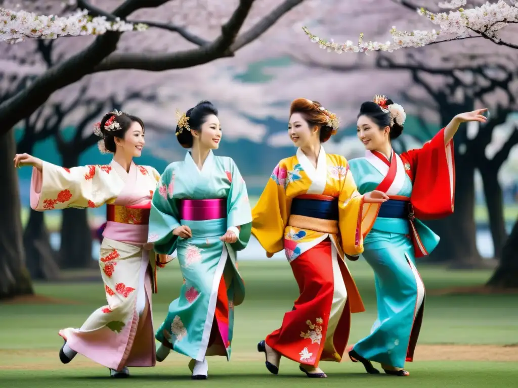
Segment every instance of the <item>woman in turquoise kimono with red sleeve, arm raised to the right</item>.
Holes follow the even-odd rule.
[[[349,352],[376,374],[371,361],[389,375],[408,376],[423,319],[425,289],[415,258],[428,255],[439,237],[419,219],[453,213],[455,170],[453,136],[460,123],[484,123],[485,109],[462,113],[422,148],[396,154],[391,140],[403,130],[406,114],[385,96],[360,108],[357,134],[367,149],[364,158],[349,161],[359,192],[380,190],[390,200],[373,204],[377,218],[365,238],[363,256],[375,274],[378,319],[371,334]],[[378,213],[379,212],[379,213]]]

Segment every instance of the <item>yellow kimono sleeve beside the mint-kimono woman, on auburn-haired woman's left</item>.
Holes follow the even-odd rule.
[[[281,161],[252,210],[252,234],[268,253],[284,249],[284,228],[290,217],[292,203],[284,191],[286,172]]]

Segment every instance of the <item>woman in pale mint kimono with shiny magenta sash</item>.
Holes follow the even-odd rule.
[[[248,244],[252,216],[236,163],[212,153],[222,137],[214,106],[202,101],[181,115],[176,135],[192,151],[162,174],[149,242],[160,253],[177,250],[184,283],[156,332],[156,357],[171,349],[189,356],[192,378],[207,379],[206,356],[231,356],[234,306],[244,299],[236,251]]]

